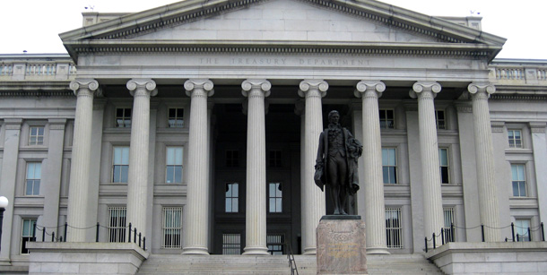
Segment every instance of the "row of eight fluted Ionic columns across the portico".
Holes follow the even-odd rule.
[[[134,79],[127,89],[135,97],[127,192],[127,220],[135,228],[146,228],[150,99],[157,93],[151,79]],[[266,179],[265,179],[265,98],[271,83],[249,79],[242,82],[243,95],[248,98],[247,112],[247,239],[244,254],[267,254],[266,247]],[[300,82],[299,95],[304,98],[301,173],[301,235],[303,254],[316,254],[316,233],[319,219],[326,214],[325,194],[314,183],[314,165],[318,136],[323,131],[322,98],[328,83],[323,80]],[[68,197],[68,219],[71,225],[69,242],[84,242],[83,230],[89,226],[85,208],[90,188],[91,112],[93,97],[100,94],[95,80],[78,79],[70,88],[77,95],[74,122],[72,169]],[[183,254],[208,254],[209,222],[209,125],[207,98],[213,95],[213,82],[191,79],[184,88],[190,97],[190,125],[188,142],[187,206]],[[369,254],[387,254],[384,184],[378,98],[386,90],[380,81],[359,82],[355,96],[362,99],[363,158],[360,166],[365,177],[361,179],[366,205],[364,215]],[[424,200],[425,236],[437,233],[443,227],[442,196],[438,171],[438,143],[435,122],[435,95],[441,90],[437,82],[415,82],[411,97],[418,99],[422,189]],[[488,94],[495,88],[488,83],[471,83],[468,91],[473,99],[474,139],[476,146],[477,177],[481,221],[490,228],[498,228],[495,185],[493,183],[493,153]],[[138,157],[135,157],[138,156]],[[497,234],[497,235],[496,235]],[[496,230],[486,234],[488,241],[498,241]],[[440,242],[438,242],[439,244]]]

